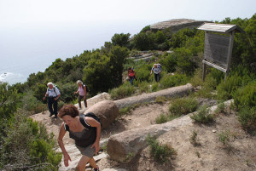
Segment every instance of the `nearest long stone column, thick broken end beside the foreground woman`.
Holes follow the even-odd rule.
[[[224,102],[225,105],[230,105],[232,100]],[[215,111],[218,105],[210,107],[210,111]],[[130,162],[133,157],[147,147],[148,143],[146,138],[148,134],[159,137],[172,129],[183,125],[192,124],[192,119],[189,117],[194,113],[190,113],[184,117],[179,117],[168,123],[162,123],[158,125],[151,125],[147,128],[137,128],[128,130],[119,134],[114,134],[108,140],[107,151],[108,155],[118,162]]]

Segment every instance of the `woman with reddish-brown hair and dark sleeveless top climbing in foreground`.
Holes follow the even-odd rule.
[[[69,137],[75,140],[76,147],[83,155],[79,160],[76,170],[85,170],[85,165],[89,162],[90,166],[92,166],[95,171],[98,171],[99,168],[96,166],[93,156],[100,150],[101,123],[97,122],[93,117],[85,117],[84,114],[79,116],[79,110],[74,105],[64,105],[58,117],[63,120],[58,143],[64,156],[65,166],[68,166],[68,160],[71,161],[63,144],[63,137],[67,131],[69,131]],[[87,127],[89,125],[90,128],[85,128],[84,124],[86,124]]]

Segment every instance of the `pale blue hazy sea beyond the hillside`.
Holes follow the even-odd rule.
[[[115,33],[137,34],[146,23],[93,23],[73,26],[0,28],[0,82],[25,83],[32,73],[45,71],[56,59],[66,60],[84,50],[101,48]]]

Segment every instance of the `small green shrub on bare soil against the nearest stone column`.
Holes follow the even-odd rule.
[[[173,155],[177,154],[171,145],[160,145],[153,136],[148,135],[147,141],[148,145],[150,145],[150,154],[156,162],[166,162]]]

